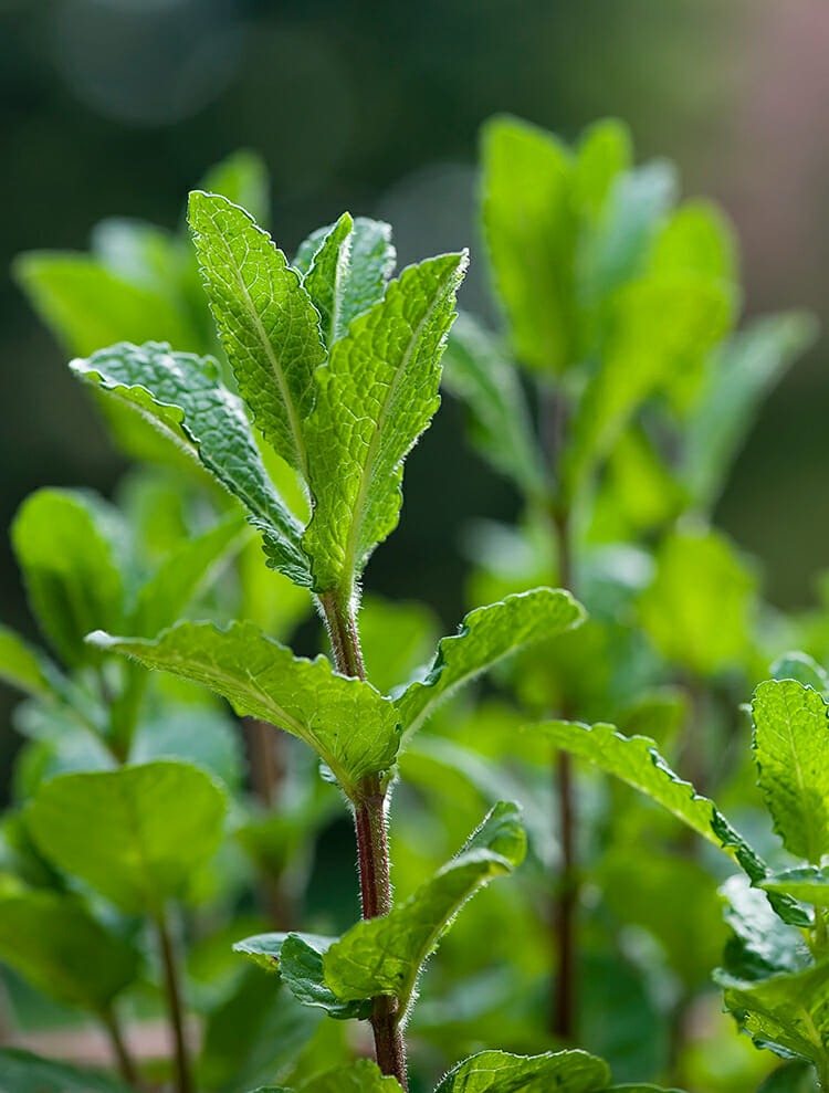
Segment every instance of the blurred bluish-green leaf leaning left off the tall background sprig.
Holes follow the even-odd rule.
[[[523,493],[539,495],[544,463],[518,377],[496,339],[463,313],[447,344],[443,387],[463,401],[471,439],[481,454]]]

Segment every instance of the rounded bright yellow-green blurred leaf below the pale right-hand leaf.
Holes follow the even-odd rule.
[[[718,532],[678,530],[657,551],[639,614],[669,661],[709,675],[744,661],[755,588],[754,574]]]

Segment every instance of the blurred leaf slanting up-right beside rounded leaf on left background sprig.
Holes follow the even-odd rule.
[[[224,521],[195,539],[178,544],[138,592],[127,629],[137,638],[155,638],[180,618],[214,567],[240,538],[244,524]]]

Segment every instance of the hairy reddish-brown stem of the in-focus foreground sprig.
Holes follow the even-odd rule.
[[[323,593],[319,601],[328,623],[337,670],[343,675],[365,680],[350,596],[339,595],[336,589],[332,589]],[[379,776],[369,775],[364,778],[354,805],[364,918],[377,918],[391,910],[386,802],[386,789]],[[386,1076],[396,1078],[408,1091],[406,1044],[400,1029],[398,1000],[388,995],[379,995],[374,1000],[370,1020],[377,1065]]]

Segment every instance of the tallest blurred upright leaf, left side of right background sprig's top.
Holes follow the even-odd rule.
[[[482,132],[483,224],[499,296],[523,365],[576,364],[573,160],[556,138],[495,117]]]

